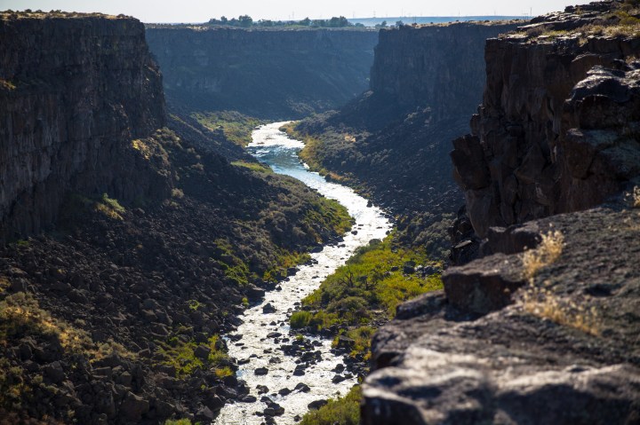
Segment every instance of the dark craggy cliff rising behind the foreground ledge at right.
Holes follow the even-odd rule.
[[[611,7],[569,8],[487,42],[484,101],[452,152],[479,236],[595,207],[640,175],[640,39],[605,16]],[[603,23],[620,29],[593,29]]]

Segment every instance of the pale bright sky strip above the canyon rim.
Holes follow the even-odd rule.
[[[103,12],[131,15],[143,22],[204,22],[211,18],[250,15],[253,20],[411,17],[533,16],[561,11],[588,0],[0,0],[0,10],[24,9]]]

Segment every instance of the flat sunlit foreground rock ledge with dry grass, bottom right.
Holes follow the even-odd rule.
[[[364,423],[636,421],[636,217],[637,209],[595,209],[537,222],[564,234],[562,255],[515,292],[515,303],[480,319],[474,304],[450,303],[446,286],[446,296],[398,307],[374,337],[377,370],[364,384]],[[505,260],[514,275],[520,256],[488,256],[447,279],[477,279]],[[475,287],[475,296],[487,290],[499,287]]]

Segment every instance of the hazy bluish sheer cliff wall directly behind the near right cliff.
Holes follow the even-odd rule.
[[[484,40],[509,23],[455,23],[380,31],[371,90],[397,106],[430,106],[435,120],[472,114],[484,87]]]

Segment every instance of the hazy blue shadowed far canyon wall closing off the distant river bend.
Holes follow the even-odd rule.
[[[343,105],[368,85],[377,32],[148,28],[172,102],[292,119]]]

